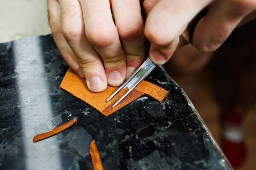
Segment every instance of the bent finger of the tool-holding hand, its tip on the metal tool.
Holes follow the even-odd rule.
[[[188,23],[211,1],[161,0],[155,4],[148,13],[144,31],[151,42],[152,62],[164,64],[171,57]]]

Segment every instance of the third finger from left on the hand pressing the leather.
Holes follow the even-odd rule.
[[[121,85],[126,76],[126,58],[112,18],[109,0],[80,0],[85,34],[103,60],[110,86]]]

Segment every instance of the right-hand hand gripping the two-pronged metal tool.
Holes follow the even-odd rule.
[[[161,65],[170,59],[179,36],[204,8],[208,13],[196,25],[191,44],[201,52],[212,52],[256,9],[256,0],[144,0],[152,62]]]

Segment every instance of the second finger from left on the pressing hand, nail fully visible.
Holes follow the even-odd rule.
[[[85,36],[83,15],[79,1],[60,0],[61,28],[65,40],[79,60],[88,88],[101,92],[107,87],[107,78],[101,58]]]

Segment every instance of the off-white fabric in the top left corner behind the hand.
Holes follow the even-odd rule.
[[[0,43],[50,33],[46,0],[0,0]]]

